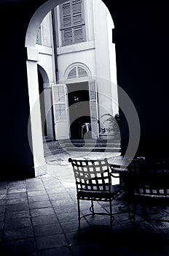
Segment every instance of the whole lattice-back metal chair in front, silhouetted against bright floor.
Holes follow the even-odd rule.
[[[122,193],[122,189],[119,184],[111,185],[111,171],[107,159],[82,160],[69,158],[68,162],[71,162],[76,181],[79,231],[81,230],[80,220],[95,214],[109,215],[112,230],[114,217],[111,202]],[[81,216],[80,200],[91,201],[90,214]],[[109,212],[95,212],[93,201],[109,202]]]

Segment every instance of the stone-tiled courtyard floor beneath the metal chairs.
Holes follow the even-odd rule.
[[[133,227],[118,208],[125,206],[125,195],[112,203],[112,233],[109,217],[95,216],[82,219],[80,235],[74,178],[64,157],[58,156],[60,165],[48,159],[44,176],[0,182],[0,255],[169,256],[169,207],[147,208],[149,217],[161,221],[144,220],[138,207]],[[86,213],[89,202],[81,206]],[[95,208],[106,211],[107,205]]]

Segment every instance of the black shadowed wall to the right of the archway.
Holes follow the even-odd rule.
[[[111,14],[115,25],[117,82],[132,99],[141,124],[137,154],[166,158],[169,156],[169,7],[114,4]],[[123,115],[120,124],[125,140],[128,129]]]

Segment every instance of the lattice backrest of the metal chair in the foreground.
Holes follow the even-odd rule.
[[[98,160],[78,160],[69,159],[74,170],[76,180],[77,195],[79,198],[91,200],[103,200],[110,198],[111,174],[107,159]],[[85,197],[85,193],[86,198]],[[98,195],[95,194],[98,192]]]

